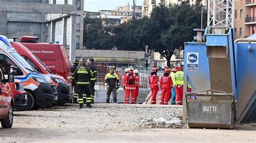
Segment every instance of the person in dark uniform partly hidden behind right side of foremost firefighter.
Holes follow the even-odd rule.
[[[96,82],[96,76],[97,76],[97,68],[94,65],[94,60],[93,58],[89,58],[87,60],[87,65],[91,69],[93,77],[91,78],[91,97],[92,97],[92,104],[94,104],[94,99],[95,99],[95,82]]]

